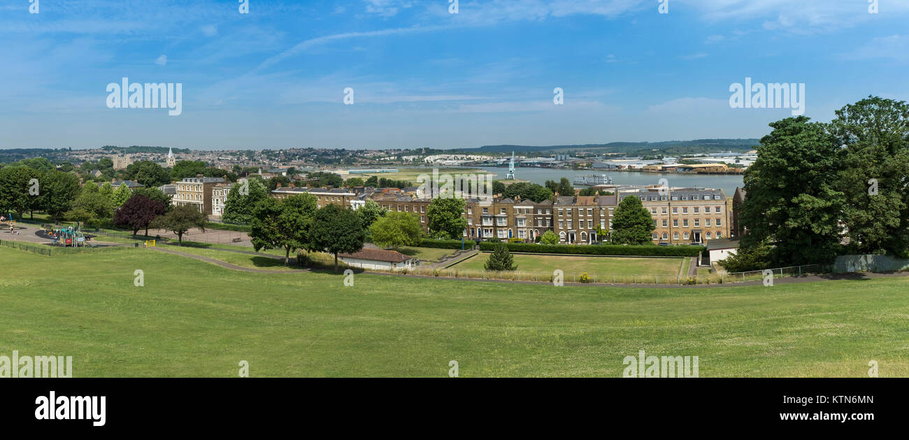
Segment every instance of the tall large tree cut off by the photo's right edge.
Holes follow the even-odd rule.
[[[856,253],[902,256],[909,249],[909,105],[869,96],[836,115],[834,145],[845,148],[835,186],[844,193],[850,245]]]

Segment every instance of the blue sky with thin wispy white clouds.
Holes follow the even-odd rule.
[[[909,0],[450,2],[0,0],[0,148],[761,137],[792,109],[734,108],[745,78],[824,122],[909,100]],[[124,77],[179,115],[109,108]]]

